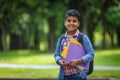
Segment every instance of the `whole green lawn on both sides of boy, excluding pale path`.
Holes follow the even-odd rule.
[[[120,66],[119,59],[120,49],[95,50],[95,65]],[[35,50],[0,52],[0,63],[56,65],[53,53]],[[88,77],[120,78],[119,74],[120,70],[94,70]],[[57,78],[57,75],[58,69],[0,68],[0,78]]]

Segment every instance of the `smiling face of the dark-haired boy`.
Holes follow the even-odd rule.
[[[80,22],[75,16],[68,16],[64,22],[65,27],[68,31],[75,31],[79,27]]]

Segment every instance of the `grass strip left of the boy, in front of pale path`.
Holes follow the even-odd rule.
[[[0,78],[57,78],[58,69],[0,68]]]

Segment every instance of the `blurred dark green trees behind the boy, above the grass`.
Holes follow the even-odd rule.
[[[68,9],[80,12],[94,48],[120,46],[119,0],[0,0],[0,51],[54,51]]]

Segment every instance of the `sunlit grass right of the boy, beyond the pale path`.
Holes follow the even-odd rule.
[[[120,66],[120,50],[97,50],[95,65]]]

